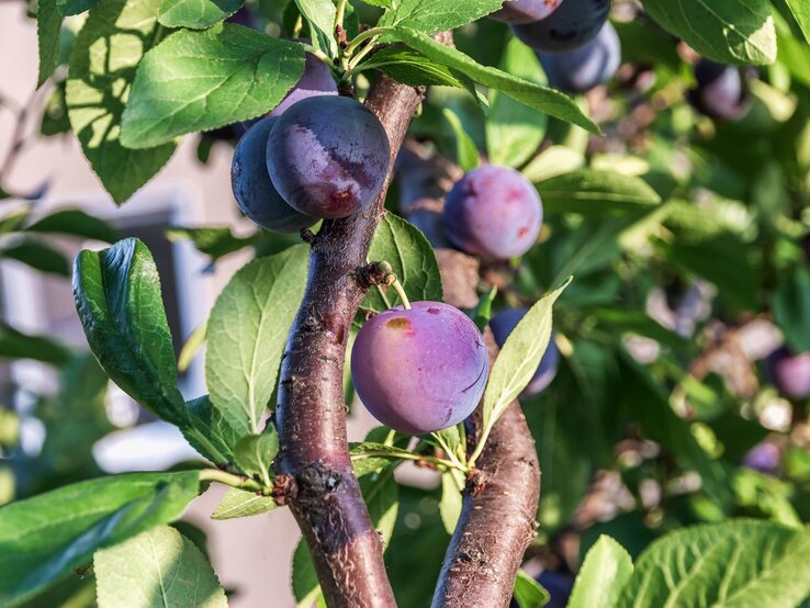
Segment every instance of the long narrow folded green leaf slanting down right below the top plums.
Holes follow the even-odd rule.
[[[599,133],[599,127],[583,113],[571,98],[560,91],[529,82],[522,78],[516,78],[495,68],[482,66],[463,53],[450,48],[421,32],[407,27],[394,27],[390,32],[393,37],[418,50],[428,59],[469,76],[475,82],[503,91],[530,108],[536,108],[551,116],[581,126],[590,133]]]

